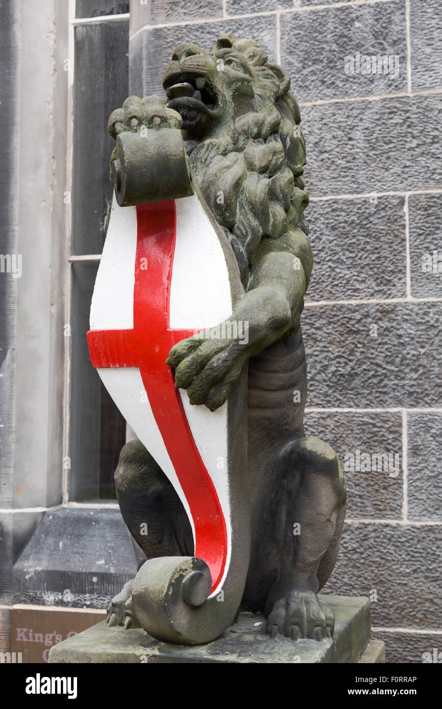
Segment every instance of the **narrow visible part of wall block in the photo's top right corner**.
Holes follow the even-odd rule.
[[[413,91],[442,86],[442,13],[438,0],[410,3],[411,88]]]

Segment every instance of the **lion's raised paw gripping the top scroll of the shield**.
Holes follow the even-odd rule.
[[[181,128],[182,118],[172,108],[166,108],[164,101],[158,96],[129,96],[122,108],[116,108],[111,113],[108,123],[108,133],[116,138],[120,133],[131,131],[138,133],[143,128]]]

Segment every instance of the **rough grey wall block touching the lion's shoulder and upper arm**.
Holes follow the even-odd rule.
[[[406,295],[403,197],[311,201],[306,218],[314,253],[306,302]]]

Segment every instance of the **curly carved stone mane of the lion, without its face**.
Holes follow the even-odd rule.
[[[270,65],[255,41],[226,37],[252,69],[254,110],[238,117],[223,135],[199,143],[190,161],[247,288],[253,253],[264,236],[276,239],[297,228],[308,233],[302,216],[308,203],[301,179],[305,141],[288,74]],[[220,40],[213,54],[219,46]]]

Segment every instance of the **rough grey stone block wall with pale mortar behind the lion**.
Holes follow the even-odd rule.
[[[367,595],[387,661],[442,649],[442,13],[439,0],[131,0],[131,93],[175,45],[231,31],[289,69],[315,265],[306,429],[348,515],[328,593]],[[372,60],[375,57],[375,60]],[[441,264],[439,264],[439,259]]]

